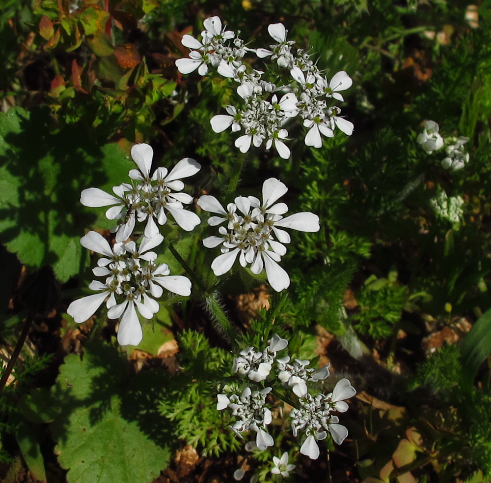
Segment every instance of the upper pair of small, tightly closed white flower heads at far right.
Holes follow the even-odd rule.
[[[469,141],[465,136],[448,137],[443,139],[439,134],[439,126],[435,121],[425,121],[423,132],[418,135],[417,142],[428,154],[445,148],[446,157],[441,166],[449,171],[458,171],[469,162],[469,153],[464,144]]]

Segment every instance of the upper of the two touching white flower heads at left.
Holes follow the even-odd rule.
[[[133,184],[123,183],[112,190],[118,196],[106,193],[100,188],[87,188],[82,191],[81,203],[89,207],[111,206],[106,216],[118,220],[116,242],[127,240],[135,229],[136,220],[145,222],[144,235],[147,238],[159,234],[159,225],[167,221],[167,212],[171,213],[176,223],[186,231],[191,231],[200,223],[196,213],[185,210],[184,205],[193,199],[183,193],[184,183],[181,178],[196,174],[201,166],[194,159],[183,158],[168,172],[167,168],[157,168],[150,176],[153,150],[148,144],[136,144],[131,155],[138,169],[132,169],[129,177]]]

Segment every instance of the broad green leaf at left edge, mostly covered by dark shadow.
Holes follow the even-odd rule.
[[[52,134],[49,122],[46,109],[0,113],[0,242],[64,282],[87,264],[80,238],[98,214],[80,204],[80,192],[126,181],[130,163],[117,144],[100,148],[76,125]]]

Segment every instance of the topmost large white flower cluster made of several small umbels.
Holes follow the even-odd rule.
[[[211,126],[215,132],[229,127],[232,132],[241,131],[235,140],[241,152],[247,152],[251,145],[264,145],[266,149],[273,147],[282,158],[289,158],[291,152],[285,141],[287,123],[293,118],[306,128],[307,146],[320,148],[322,136],[333,137],[336,128],[349,136],[353,133],[353,123],[341,117],[341,109],[332,105],[333,101],[344,100],[340,92],[352,86],[351,77],[340,71],[329,81],[308,52],[293,52],[295,42],[287,40],[288,30],[283,24],[269,25],[268,32],[275,41],[269,49],[246,47],[239,38],[240,32],[236,35],[223,29],[219,17],[206,19],[204,27],[201,40],[183,36],[182,44],[193,50],[189,58],[176,60],[176,66],[183,74],[197,69],[200,75],[208,74],[212,68],[239,84],[237,105],[228,105],[227,114],[214,116]],[[273,75],[267,77],[264,71],[248,68],[243,61],[246,53],[269,59],[268,70]],[[266,61],[265,65],[268,66]]]

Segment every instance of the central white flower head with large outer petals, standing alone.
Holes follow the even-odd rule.
[[[319,217],[311,212],[300,212],[283,216],[288,211],[285,203],[276,203],[288,191],[284,183],[269,178],[262,186],[262,201],[254,196],[238,196],[227,208],[214,196],[201,196],[198,206],[216,213],[208,224],[219,226],[218,236],[203,240],[208,248],[220,246],[221,254],[212,263],[215,275],[223,275],[234,265],[237,257],[242,267],[259,274],[266,271],[274,290],[280,292],[290,285],[288,273],[278,265],[286,253],[285,244],[290,235],[283,228],[303,232],[319,231]]]

